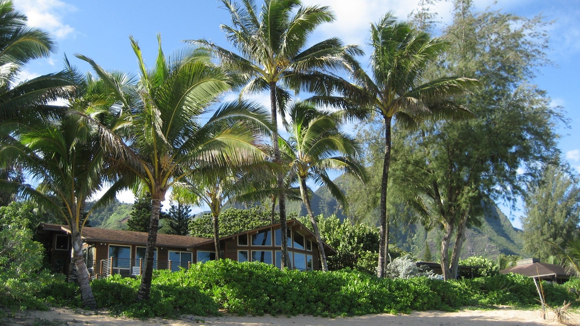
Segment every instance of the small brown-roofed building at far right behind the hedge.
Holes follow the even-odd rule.
[[[499,271],[499,273],[516,273],[528,277],[539,278],[556,283],[563,283],[573,275],[572,271],[560,265],[541,263],[538,258],[529,258],[516,261],[516,266]]]

